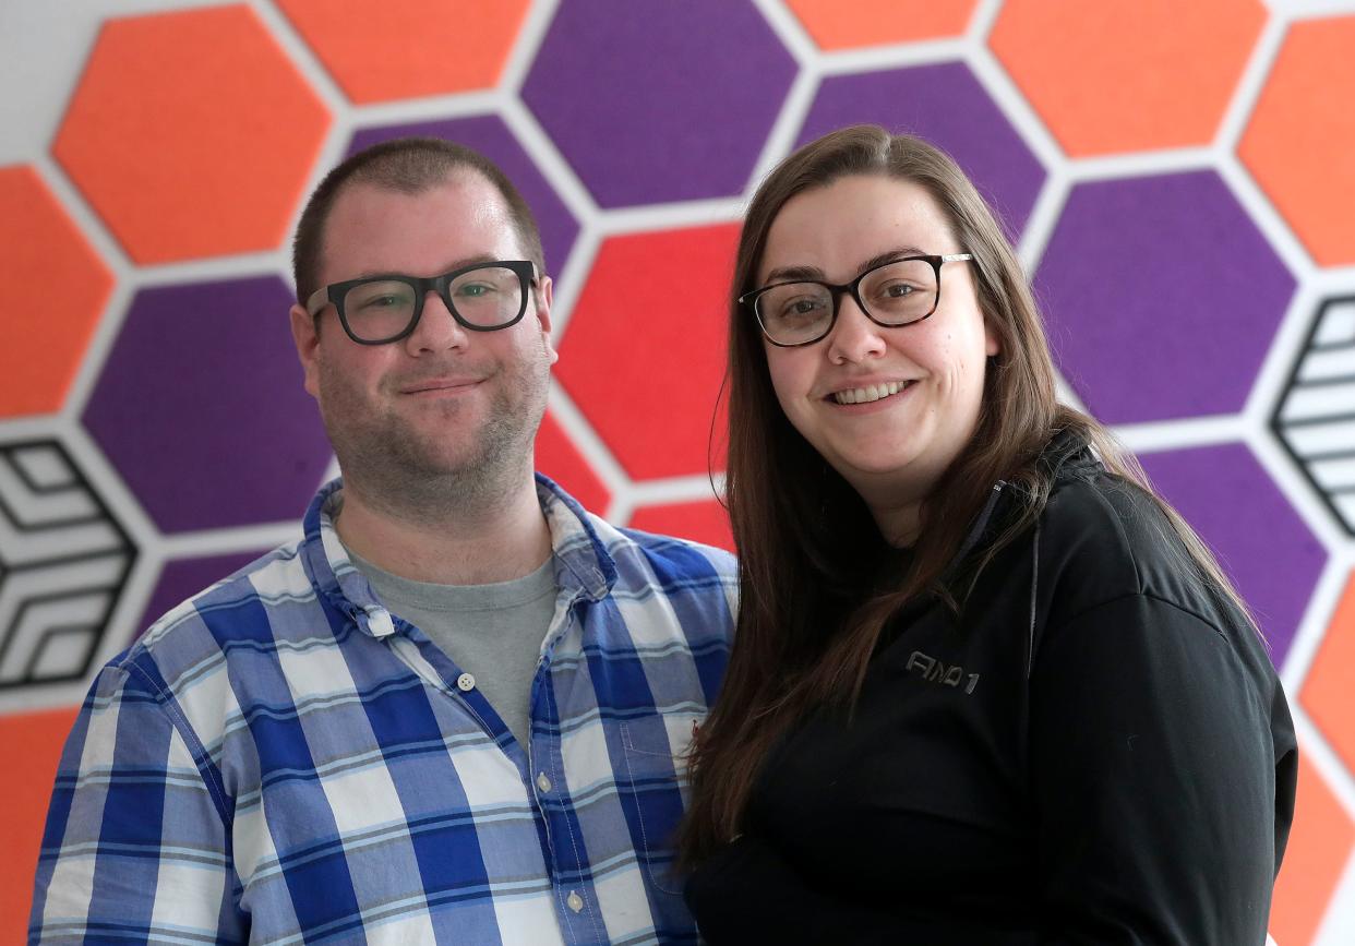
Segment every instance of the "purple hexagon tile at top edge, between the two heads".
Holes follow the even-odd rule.
[[[570,0],[522,98],[603,207],[728,197],[795,68],[748,0]]]

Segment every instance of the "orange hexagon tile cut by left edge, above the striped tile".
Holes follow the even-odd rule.
[[[0,168],[0,417],[60,411],[112,275],[30,167]]]

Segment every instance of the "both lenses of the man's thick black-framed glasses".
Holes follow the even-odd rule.
[[[522,279],[503,266],[480,267],[453,279],[443,301],[450,301],[455,313],[472,325],[497,328],[522,312]],[[400,279],[363,282],[343,297],[350,331],[369,342],[404,332],[417,308],[419,290]]]

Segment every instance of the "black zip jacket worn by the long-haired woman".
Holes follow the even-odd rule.
[[[962,614],[905,609],[854,716],[768,756],[687,885],[709,942],[1264,942],[1297,771],[1266,646],[1150,497],[1061,450]]]

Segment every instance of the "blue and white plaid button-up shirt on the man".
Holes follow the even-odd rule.
[[[335,533],[161,618],[66,744],[30,942],[675,943],[683,754],[725,668],[733,558],[538,478],[560,587],[520,745]]]

